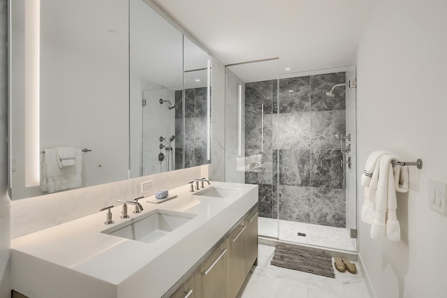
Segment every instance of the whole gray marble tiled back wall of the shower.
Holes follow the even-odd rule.
[[[345,88],[325,96],[345,80],[345,73],[330,73],[245,85],[245,156],[261,154],[264,169],[247,171],[245,182],[259,184],[260,216],[345,227],[334,136],[346,131]]]

